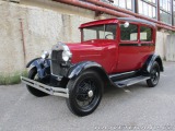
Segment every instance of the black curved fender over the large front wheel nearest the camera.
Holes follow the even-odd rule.
[[[67,78],[70,80],[75,79],[85,70],[96,71],[102,78],[103,82],[113,83],[103,67],[94,61],[83,61],[72,66],[68,71]]]

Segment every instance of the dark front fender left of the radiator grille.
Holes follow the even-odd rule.
[[[47,71],[47,73],[50,73],[50,60],[49,59],[35,58],[26,64],[26,68],[30,68],[30,67],[37,69],[37,73],[40,79],[46,76],[47,70],[49,70]]]

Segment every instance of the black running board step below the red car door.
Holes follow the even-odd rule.
[[[150,76],[136,76],[127,80],[116,81],[114,83],[117,85],[117,87],[126,87],[149,79]]]

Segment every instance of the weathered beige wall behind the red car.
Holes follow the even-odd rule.
[[[33,0],[22,0],[23,4],[0,1],[0,73],[24,70],[30,60],[58,41],[80,41],[79,25],[96,19],[90,10],[50,0],[45,0],[45,5],[42,0],[36,1],[35,4]],[[166,35],[158,33],[156,52],[162,58]]]

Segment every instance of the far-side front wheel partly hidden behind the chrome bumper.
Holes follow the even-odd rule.
[[[28,79],[39,82],[39,78],[38,78],[36,68],[33,68],[33,69],[30,70]],[[47,96],[48,95],[48,94],[46,94],[46,93],[44,93],[42,91],[38,91],[38,90],[34,88],[34,87],[31,87],[30,85],[26,85],[26,87],[27,87],[28,92],[31,94],[33,94],[34,96],[42,97],[42,96]]]

